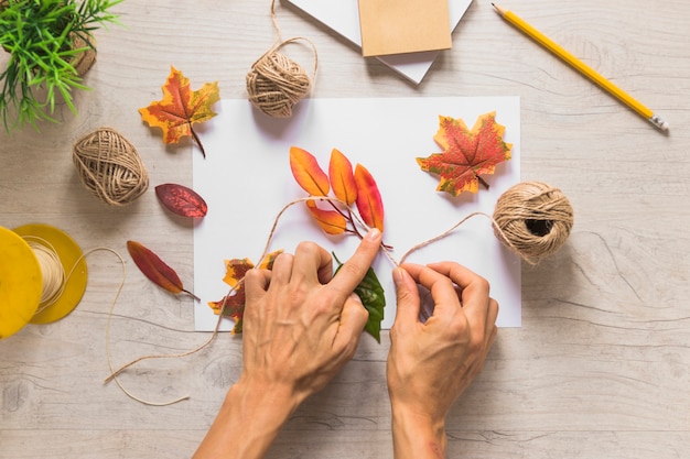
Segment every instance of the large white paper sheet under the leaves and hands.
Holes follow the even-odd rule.
[[[201,132],[206,159],[193,151],[194,189],[208,204],[208,214],[194,229],[195,329],[212,330],[217,316],[207,306],[229,289],[223,282],[224,260],[258,262],[279,211],[306,194],[294,182],[290,146],[314,154],[327,171],[332,149],[369,170],[380,189],[385,211],[384,240],[399,260],[414,244],[435,237],[468,214],[493,214],[498,196],[520,178],[520,107],[517,97],[305,99],[292,118],[274,119],[247,100],[223,100],[218,116]],[[513,159],[485,176],[490,188],[453,198],[435,190],[438,177],[422,172],[418,156],[440,152],[433,141],[439,116],[462,118],[472,128],[478,116],[496,111],[513,143]],[[356,237],[328,237],[312,221],[303,204],[290,207],[278,222],[271,250],[293,252],[313,240],[345,261]],[[520,260],[495,238],[487,218],[467,220],[450,237],[412,253],[408,261],[453,260],[486,277],[499,305],[498,325],[519,327],[521,319]],[[379,254],[374,264],[386,292],[382,328],[396,314],[392,263]],[[224,330],[233,321],[223,319]]]

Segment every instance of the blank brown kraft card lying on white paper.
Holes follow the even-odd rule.
[[[365,57],[451,47],[448,0],[358,1]]]

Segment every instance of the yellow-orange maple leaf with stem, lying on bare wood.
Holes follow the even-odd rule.
[[[139,109],[141,119],[151,128],[158,127],[163,130],[163,143],[177,143],[183,136],[191,135],[206,157],[204,146],[192,124],[216,116],[212,107],[220,100],[218,81],[206,83],[201,89],[193,91],[190,88],[190,80],[171,66],[162,89],[162,100]]]

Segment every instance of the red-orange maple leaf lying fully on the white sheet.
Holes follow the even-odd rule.
[[[506,128],[496,123],[496,112],[482,114],[472,130],[464,121],[439,117],[434,140],[443,149],[428,157],[418,157],[422,171],[440,176],[438,192],[453,196],[462,192],[477,193],[479,183],[488,188],[482,174],[493,174],[496,165],[510,160],[513,144],[503,135]]]

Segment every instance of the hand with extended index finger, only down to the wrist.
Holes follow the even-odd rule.
[[[271,271],[247,273],[244,380],[298,404],[327,384],[359,342],[368,313],[354,289],[380,241],[378,230],[368,233],[335,276],[331,254],[313,242],[280,254]]]

